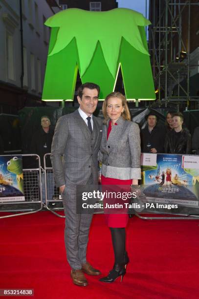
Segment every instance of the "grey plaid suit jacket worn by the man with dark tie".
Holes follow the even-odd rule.
[[[93,116],[93,131],[79,111],[59,118],[51,147],[51,162],[57,187],[67,189],[85,185],[92,173],[94,184],[98,182],[97,155],[102,138],[102,120]]]

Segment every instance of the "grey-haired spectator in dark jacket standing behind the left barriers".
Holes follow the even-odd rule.
[[[50,153],[51,144],[54,131],[50,128],[50,119],[44,115],[41,118],[41,128],[33,134],[31,142],[31,153],[38,154],[41,160],[41,166],[44,169],[44,154]],[[50,156],[48,155],[45,159],[45,166],[52,167]],[[53,173],[47,172],[47,192],[48,199],[52,199],[54,195],[54,184],[53,184]],[[42,172],[42,198],[45,202],[45,183],[44,183],[44,172]]]

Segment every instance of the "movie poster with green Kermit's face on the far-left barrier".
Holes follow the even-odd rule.
[[[0,156],[0,202],[24,200],[22,156]]]

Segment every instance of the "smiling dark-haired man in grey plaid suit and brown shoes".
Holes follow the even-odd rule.
[[[59,118],[52,142],[51,161],[66,215],[65,245],[73,283],[88,284],[84,273],[100,275],[86,259],[92,214],[76,214],[77,185],[98,183],[97,155],[102,138],[102,122],[92,113],[100,88],[85,83],[78,88],[79,109]],[[63,157],[62,157],[63,156]]]

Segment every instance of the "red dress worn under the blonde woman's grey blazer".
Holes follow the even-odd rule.
[[[115,123],[115,125],[117,125]],[[109,134],[111,132],[111,121],[109,122],[109,127],[107,131],[107,140],[109,139]],[[129,185],[129,190],[131,191],[131,180],[119,180],[111,177],[101,176],[102,185]],[[106,222],[109,227],[126,227],[129,219],[128,214],[105,214]]]

